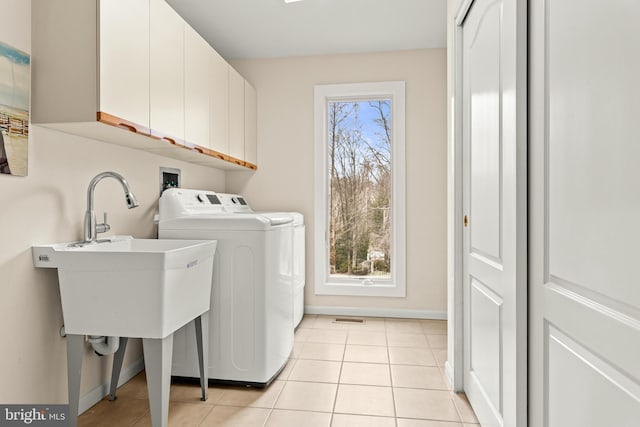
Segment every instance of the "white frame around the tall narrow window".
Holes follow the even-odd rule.
[[[405,82],[317,85],[315,120],[314,287],[316,295],[406,297]],[[328,125],[329,101],[391,99],[391,279],[336,278],[329,274]],[[373,284],[364,281],[373,280]]]

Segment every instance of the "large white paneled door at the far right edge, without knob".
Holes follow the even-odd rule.
[[[640,419],[640,3],[531,5],[533,426]]]

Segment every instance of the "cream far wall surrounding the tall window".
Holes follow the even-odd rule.
[[[446,51],[233,61],[258,91],[258,171],[230,173],[228,190],[254,208],[297,210],[307,222],[305,304],[446,311]],[[313,287],[313,87],[406,81],[407,297],[332,297]],[[388,313],[388,311],[387,311]],[[407,314],[410,314],[407,312]]]

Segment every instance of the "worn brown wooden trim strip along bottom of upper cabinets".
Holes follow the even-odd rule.
[[[232,163],[238,166],[242,166],[245,167],[247,169],[251,169],[251,170],[257,170],[257,166],[254,165],[253,163],[249,163],[246,162],[244,160],[240,160],[237,159],[235,157],[229,156],[228,154],[224,154],[224,153],[220,153],[218,151],[212,150],[210,148],[207,147],[202,147],[200,145],[197,144],[192,144],[190,142],[184,141],[182,139],[179,138],[174,138],[171,135],[167,135],[161,132],[157,132],[154,131],[152,129],[149,129],[147,127],[144,126],[140,126],[137,123],[133,123],[130,122],[128,120],[125,119],[121,119],[120,117],[114,116],[112,114],[109,113],[105,113],[102,111],[98,111],[97,113],[97,121],[99,123],[103,123],[109,126],[113,126],[119,129],[123,129],[123,130],[128,130],[129,132],[133,132],[135,134],[138,135],[142,135],[142,136],[146,136],[148,138],[151,139],[155,139],[158,141],[165,141],[168,142],[169,144],[175,146],[175,147],[180,147],[180,148],[184,148],[185,150],[189,150],[193,153],[199,154],[199,155],[203,155],[203,156],[208,156],[208,157],[213,157],[215,159],[218,160],[222,160],[224,162],[227,163]],[[184,160],[184,159],[179,159],[179,160]]]

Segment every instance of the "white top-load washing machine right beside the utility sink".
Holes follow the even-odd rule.
[[[158,237],[218,241],[208,376],[264,387],[293,349],[293,221],[289,215],[237,215],[226,203],[213,191],[168,189],[160,197]],[[172,375],[199,378],[191,324],[174,334],[173,346]]]

